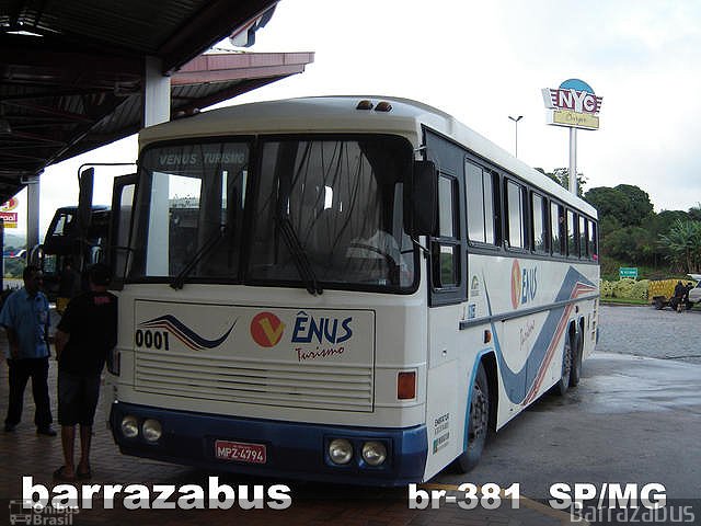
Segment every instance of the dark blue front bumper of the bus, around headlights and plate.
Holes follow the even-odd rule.
[[[139,425],[146,419],[158,420],[163,430],[158,443],[147,443],[140,436],[124,437],[120,423],[126,415],[136,416]],[[405,428],[322,425],[222,416],[124,402],[112,405],[110,422],[114,439],[126,455],[278,479],[405,485],[422,481],[428,447],[425,425]],[[356,455],[348,465],[336,466],[329,459],[326,449],[333,438],[346,438],[354,445]],[[216,441],[265,445],[267,461],[254,465],[217,459]],[[367,441],[380,441],[388,447],[388,460],[382,466],[370,467],[357,460],[363,443]]]

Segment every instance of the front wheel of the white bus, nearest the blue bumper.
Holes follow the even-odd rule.
[[[480,462],[490,426],[490,386],[480,363],[470,396],[468,448],[456,459],[458,471],[467,473]]]

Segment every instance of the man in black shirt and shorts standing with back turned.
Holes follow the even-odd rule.
[[[100,396],[100,375],[107,353],[117,343],[117,298],[107,291],[110,268],[90,268],[90,291],[68,304],[56,331],[58,359],[58,422],[65,465],[54,472],[58,480],[88,479],[92,423]],[[80,424],[81,456],[73,464],[76,425]]]

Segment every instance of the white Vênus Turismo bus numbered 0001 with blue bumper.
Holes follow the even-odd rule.
[[[579,381],[596,210],[430,106],[246,104],[146,128],[113,202],[122,453],[341,483],[468,470]]]

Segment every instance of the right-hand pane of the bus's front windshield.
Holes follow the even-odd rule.
[[[281,235],[287,221],[323,286],[411,287],[414,248],[403,218],[411,155],[406,140],[388,136],[264,141],[249,277],[300,279]]]

